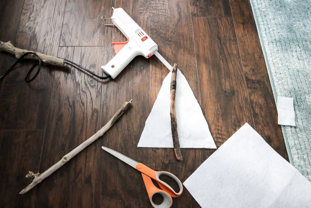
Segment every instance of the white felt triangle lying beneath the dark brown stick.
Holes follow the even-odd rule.
[[[173,148],[170,123],[170,72],[161,86],[137,147]],[[216,145],[186,78],[177,70],[175,110],[180,148],[212,148]]]

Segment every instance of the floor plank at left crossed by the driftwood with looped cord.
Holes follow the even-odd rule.
[[[57,56],[64,7],[64,1],[25,0],[14,45]],[[33,63],[26,61],[5,77],[0,129],[45,128],[55,68],[43,67],[38,78],[27,84],[24,77]]]

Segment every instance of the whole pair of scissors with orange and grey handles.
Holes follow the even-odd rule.
[[[155,208],[169,208],[173,204],[172,197],[179,197],[181,195],[181,193],[183,192],[183,184],[172,173],[166,172],[166,171],[154,171],[151,168],[145,166],[144,164],[142,164],[140,162],[136,162],[135,160],[133,160],[129,157],[126,157],[125,155],[123,155],[117,151],[114,151],[114,150],[109,149],[109,148],[104,147],[104,146],[101,148],[103,150],[105,150],[106,152],[109,152],[110,154],[112,154],[114,157],[117,157],[118,159],[122,160],[123,162],[127,163],[128,165],[132,166],[137,171],[142,173],[142,179],[144,180],[146,190],[147,190],[147,193],[149,196],[149,200],[150,200],[150,203],[153,207],[155,207]],[[176,183],[179,186],[179,192],[176,193],[171,186],[169,186],[167,183],[162,181],[160,179],[161,175],[166,175],[166,176],[169,176],[172,179],[174,179],[174,181],[176,181]],[[157,188],[153,184],[151,179],[155,180],[162,190]],[[155,194],[160,194],[161,196],[163,196],[163,201],[159,205],[155,204],[152,201],[152,196]]]

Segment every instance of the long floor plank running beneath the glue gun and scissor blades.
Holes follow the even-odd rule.
[[[149,32],[148,1],[105,2],[106,8],[122,7],[146,32]],[[110,17],[109,9],[104,16]],[[105,58],[107,63],[114,56],[112,41],[125,37],[117,28],[106,28]],[[151,166],[153,149],[137,148],[137,143],[151,111],[150,66],[144,57],[136,57],[117,77],[103,85],[101,99],[101,123],[105,124],[120,106],[130,99],[132,108],[98,141],[97,174],[94,207],[149,207],[142,176],[137,170],[101,149],[107,146],[124,155]],[[98,126],[98,128],[100,128]]]

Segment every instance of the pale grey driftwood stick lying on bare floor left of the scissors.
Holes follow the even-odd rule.
[[[96,132],[93,136],[88,138],[86,141],[81,143],[78,147],[74,148],[71,152],[66,154],[62,157],[60,161],[55,163],[52,167],[44,171],[43,173],[34,174],[33,172],[29,172],[29,174],[26,175],[26,177],[35,177],[35,179],[23,190],[21,190],[20,194],[25,194],[27,191],[32,189],[35,185],[40,183],[43,179],[51,175],[53,172],[55,172],[58,168],[62,167],[66,162],[68,162],[72,157],[76,156],[79,152],[81,152],[84,148],[89,146],[92,142],[94,142],[96,139],[101,137],[117,120],[120,118],[120,116],[132,105],[132,100],[129,102],[125,102],[122,107],[117,111],[116,114],[102,127],[98,132]]]

